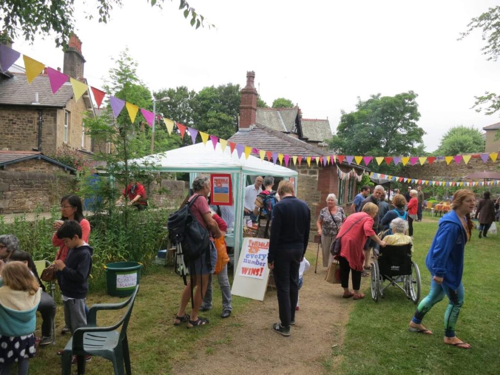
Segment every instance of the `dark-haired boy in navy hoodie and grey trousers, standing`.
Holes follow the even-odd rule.
[[[75,220],[64,221],[56,235],[69,248],[66,260],[57,259],[54,264],[64,303],[64,321],[73,333],[76,328],[87,325],[85,298],[93,248],[81,238],[81,226]]]

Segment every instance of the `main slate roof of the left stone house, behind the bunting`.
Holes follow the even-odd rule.
[[[11,78],[0,80],[0,104],[4,105],[33,105],[35,92],[38,92],[37,107],[62,108],[73,96],[73,88],[69,82],[62,85],[53,94],[50,88],[48,75],[38,75],[29,84],[26,75],[11,73]]]

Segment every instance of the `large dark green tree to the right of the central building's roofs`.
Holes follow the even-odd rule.
[[[425,133],[416,124],[420,118],[417,94],[413,91],[394,96],[371,95],[358,98],[356,110],[342,111],[336,134],[328,141],[345,155],[414,155]],[[380,165],[381,172],[391,167]]]

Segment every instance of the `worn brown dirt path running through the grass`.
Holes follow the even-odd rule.
[[[310,245],[309,258],[317,245]],[[283,337],[272,331],[278,321],[275,290],[267,290],[262,302],[254,301],[245,311],[233,311],[224,319],[214,334],[198,341],[192,359],[172,363],[172,374],[321,374],[330,364],[332,346],[342,343],[344,326],[352,299],[341,298],[339,284],[324,281],[325,268],[318,260],[304,273],[304,284],[299,291],[300,310],[295,315],[296,325],[291,336]],[[338,356],[334,357],[338,358]],[[338,360],[338,359],[336,359]]]

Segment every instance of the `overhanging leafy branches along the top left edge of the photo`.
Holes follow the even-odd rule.
[[[164,0],[146,0],[151,6],[158,6]],[[75,0],[2,0],[0,2],[0,19],[3,20],[3,33],[0,41],[14,39],[22,33],[26,40],[31,42],[37,33],[48,35],[55,33],[55,45],[67,47],[69,37],[74,30],[74,2]],[[107,23],[113,6],[121,6],[122,0],[97,0],[96,11],[98,22]],[[204,17],[197,14],[187,1],[179,0],[179,9],[183,10],[184,17],[190,17],[191,26],[204,26]],[[93,12],[87,13],[86,18],[94,18]],[[215,27],[207,23],[208,28]]]

